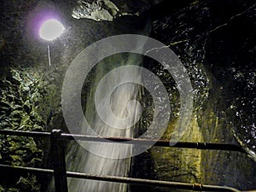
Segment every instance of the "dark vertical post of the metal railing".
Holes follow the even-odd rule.
[[[67,172],[61,130],[52,130],[50,143],[54,158],[55,192],[67,192]]]

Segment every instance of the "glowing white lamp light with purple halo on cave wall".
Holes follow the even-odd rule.
[[[52,41],[58,38],[64,30],[65,28],[59,20],[51,19],[46,20],[40,27],[39,35],[44,40]]]

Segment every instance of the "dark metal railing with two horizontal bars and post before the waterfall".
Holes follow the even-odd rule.
[[[116,183],[135,183],[135,184],[146,184],[158,187],[170,187],[175,189],[190,189],[194,191],[234,191],[239,192],[240,190],[217,185],[206,185],[201,183],[179,183],[169,182],[161,180],[150,180],[143,178],[133,177],[114,177],[114,176],[99,176],[88,173],[80,172],[67,172],[65,162],[65,151],[63,148],[63,140],[81,140],[97,143],[113,143],[113,142],[125,142],[130,141],[129,144],[148,145],[154,143],[154,146],[170,147],[170,148],[197,148],[197,149],[213,149],[213,150],[229,150],[237,151],[247,154],[244,148],[235,144],[225,143],[188,143],[178,142],[174,145],[170,144],[169,141],[165,140],[152,140],[152,139],[138,139],[138,138],[125,138],[125,137],[90,137],[84,135],[74,135],[62,133],[61,130],[53,130],[51,132],[39,132],[39,131],[5,131],[0,130],[0,135],[9,136],[22,136],[22,137],[50,137],[51,148],[53,149],[54,157],[54,169],[42,169],[25,166],[7,166],[0,165],[0,169],[15,171],[15,172],[31,172],[54,175],[55,178],[55,191],[56,192],[67,192],[67,177],[93,179],[100,181],[116,182]],[[125,143],[124,143],[125,144]]]

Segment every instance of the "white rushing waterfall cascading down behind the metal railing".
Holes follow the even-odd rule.
[[[148,34],[151,29],[150,26],[151,22],[146,22],[146,26],[140,33]],[[134,39],[134,42],[136,48],[133,49],[143,50],[144,40]],[[128,41],[126,44],[119,42],[119,44],[126,47],[131,42]],[[108,50],[108,44],[105,45]],[[102,47],[100,49],[102,52],[105,51]],[[83,61],[75,58],[73,63],[82,63],[82,70],[90,71],[89,79],[83,79],[83,81],[90,83],[85,83],[82,90],[82,93],[86,92],[84,94],[85,99],[81,98],[81,101],[84,101],[82,103],[84,107],[84,114],[82,115],[84,117],[72,117],[74,121],[76,119],[78,121],[79,119],[86,119],[85,123],[82,120],[83,122],[80,122],[81,125],[79,123],[75,125],[78,127],[77,133],[100,137],[135,137],[134,130],[140,124],[139,117],[142,111],[140,103],[137,102],[140,100],[142,93],[142,86],[139,85],[142,84],[142,72],[138,67],[131,67],[129,73],[126,73],[126,71],[124,73],[116,73],[115,69],[125,66],[139,66],[143,61],[143,55],[133,53],[109,55],[97,61],[96,66],[93,68],[84,69],[84,67],[87,67],[83,64],[84,61],[90,61],[90,58],[86,56],[81,57],[83,55],[82,52],[77,58],[80,56],[79,58]],[[92,56],[91,60],[102,58],[101,53],[94,50],[90,53],[90,56]],[[70,79],[67,81],[68,84],[73,84],[74,79],[80,79],[83,76],[78,73],[70,73]],[[131,79],[131,83],[125,82],[124,79],[127,78]],[[113,84],[118,84],[118,86],[114,87]],[[67,89],[68,93],[73,92],[73,85],[70,88]],[[65,89],[62,88],[62,90]],[[67,103],[73,103],[72,99],[67,101]],[[91,129],[86,128],[89,125]],[[80,129],[79,126],[83,128]],[[67,148],[66,155],[67,171],[127,177],[130,171],[132,154],[133,146],[131,144],[71,142]],[[126,191],[128,187],[126,183],[111,183],[77,178],[68,178],[67,185],[68,191],[72,192],[122,192]]]

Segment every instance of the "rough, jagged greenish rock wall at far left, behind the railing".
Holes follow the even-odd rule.
[[[42,76],[26,68],[9,68],[2,76],[0,96],[0,129],[15,131],[44,131],[49,117],[49,95]],[[1,136],[0,164],[11,166],[41,166],[44,142],[32,137]],[[12,191],[39,191],[40,184],[33,174],[1,174],[4,188]]]

